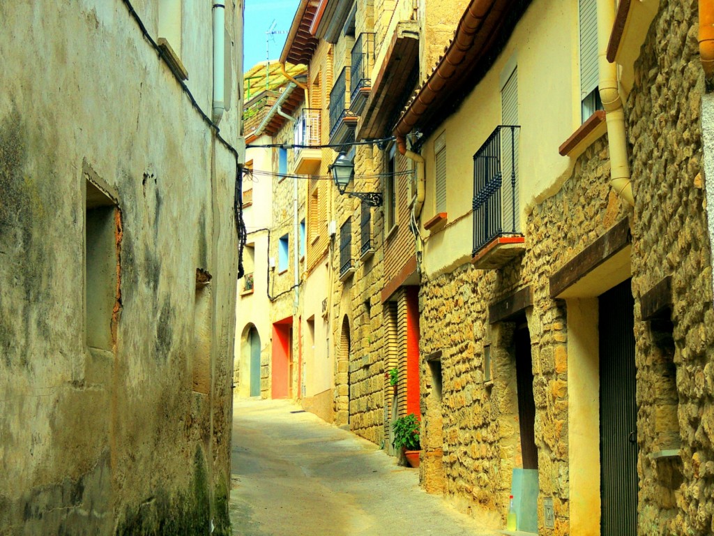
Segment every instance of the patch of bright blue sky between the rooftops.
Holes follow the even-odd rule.
[[[276,21],[275,31],[287,32],[298,9],[299,0],[246,0],[245,41],[243,41],[243,69],[248,71],[259,61],[266,61],[266,52],[270,50],[270,59],[278,59],[283,44],[284,34],[271,35],[266,49],[266,31]]]

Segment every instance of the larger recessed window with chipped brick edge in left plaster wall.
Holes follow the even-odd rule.
[[[111,351],[115,328],[114,304],[118,299],[116,273],[116,203],[86,175],[84,223],[84,299],[86,344]]]

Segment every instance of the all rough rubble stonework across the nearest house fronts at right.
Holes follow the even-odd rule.
[[[536,205],[526,252],[499,272],[460,267],[421,287],[421,355],[441,351],[441,399],[422,361],[421,479],[464,510],[506,520],[513,440],[514,324],[490,324],[488,306],[531,286],[535,442],[540,497],[552,497],[555,522],[538,533],[570,533],[568,465],[568,315],[550,297],[549,278],[575,254],[627,218],[635,297],[638,533],[705,535],[714,531],[714,309],[701,169],[696,2],[665,1],[635,66],[625,102],[635,207],[609,185],[607,138],[579,158],[560,191]],[[640,298],[672,277],[670,322],[645,321]],[[493,381],[483,377],[490,345]],[[653,459],[664,443],[679,457]],[[443,450],[443,457],[442,452]],[[498,520],[498,519],[497,519]]]

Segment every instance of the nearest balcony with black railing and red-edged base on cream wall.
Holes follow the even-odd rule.
[[[526,249],[518,214],[518,132],[497,126],[473,155],[472,264],[499,269]]]

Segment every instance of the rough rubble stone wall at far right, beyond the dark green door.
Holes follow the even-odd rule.
[[[714,309],[707,238],[700,109],[705,91],[697,3],[663,2],[626,103],[633,157],[633,294],[640,435],[640,531],[714,531]],[[672,277],[668,318],[643,322],[640,300]],[[641,388],[640,388],[641,385]],[[680,457],[651,457],[663,434]],[[639,435],[639,434],[638,434]]]

